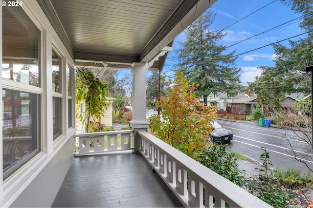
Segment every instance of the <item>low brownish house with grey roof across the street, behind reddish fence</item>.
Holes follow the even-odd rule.
[[[231,113],[253,113],[257,97],[242,97],[230,103]]]

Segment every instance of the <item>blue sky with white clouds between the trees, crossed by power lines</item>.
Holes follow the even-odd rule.
[[[265,6],[263,9],[256,11],[252,15],[225,29],[227,36],[224,37],[221,43],[224,46],[230,46],[301,16],[292,11],[290,7],[283,5],[280,0],[272,1],[274,0],[217,0],[210,8],[212,13],[216,13],[210,30],[226,28],[232,23],[245,18]],[[276,41],[297,36],[305,32],[298,27],[298,23],[299,19],[293,20],[275,30],[271,30],[270,32],[229,47],[229,50],[236,50],[237,52],[235,54],[238,55]],[[291,40],[297,40],[300,37],[291,38]],[[303,37],[304,36],[302,36],[302,38]],[[176,59],[175,51],[180,47],[178,41],[184,41],[183,33],[175,39],[173,52],[168,55],[163,69],[166,75],[174,74],[173,65]],[[288,45],[288,41],[281,43]],[[254,81],[254,77],[261,74],[261,71],[257,69],[258,66],[274,66],[274,62],[271,59],[274,56],[272,46],[240,55],[236,61],[236,65],[242,69],[241,81],[244,84],[246,81]],[[147,76],[150,76],[150,73],[147,73]]]

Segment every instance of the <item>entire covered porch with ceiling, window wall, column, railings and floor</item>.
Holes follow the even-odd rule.
[[[0,126],[27,138],[0,132],[0,207],[268,207],[147,132],[145,73],[162,70],[174,38],[215,1],[2,7]],[[132,70],[132,130],[75,134],[77,66]]]

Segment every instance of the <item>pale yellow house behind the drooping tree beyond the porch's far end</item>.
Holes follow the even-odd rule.
[[[107,98],[107,109],[104,109],[103,116],[101,116],[101,124],[112,127],[112,103],[115,98]],[[81,102],[80,105],[80,111],[81,113],[85,111],[85,103]],[[85,131],[85,125],[83,122],[81,122],[79,119],[76,120],[76,133],[84,133]]]

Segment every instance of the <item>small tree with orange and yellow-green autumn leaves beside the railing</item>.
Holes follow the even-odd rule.
[[[189,84],[181,71],[175,74],[174,80],[169,79],[166,86],[169,95],[156,104],[163,111],[161,115],[150,117],[151,131],[159,139],[199,160],[208,145],[206,139],[213,131],[210,121],[216,111],[201,104],[194,93],[196,86]],[[201,113],[197,109],[201,109]]]

